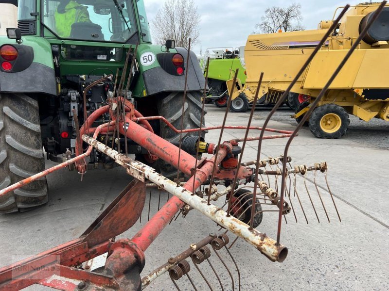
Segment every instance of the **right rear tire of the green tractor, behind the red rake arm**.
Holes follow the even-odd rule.
[[[181,129],[182,102],[183,92],[172,92],[166,97],[159,98],[157,101],[158,114],[165,117],[176,129]],[[200,128],[201,108],[201,93],[187,92],[184,106],[183,129]],[[204,110],[204,114],[206,113]],[[160,137],[169,142],[179,142],[180,134],[169,128],[163,121],[159,122],[159,127]],[[204,135],[205,132],[203,131],[202,137]],[[185,136],[198,136],[198,132],[182,133],[182,138]],[[174,166],[160,159],[158,163],[159,170],[163,176],[170,179],[177,178],[177,169]]]

